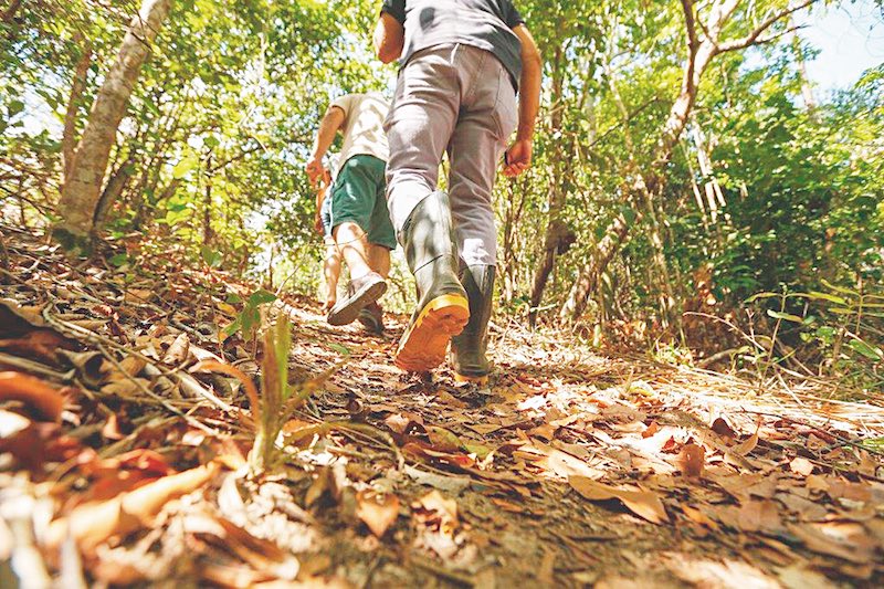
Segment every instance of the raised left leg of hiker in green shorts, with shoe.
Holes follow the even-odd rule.
[[[354,156],[348,159],[338,172],[332,194],[332,234],[350,271],[345,297],[328,313],[327,320],[332,325],[356,320],[362,307],[387,291],[383,277],[372,272],[368,263],[366,230],[376,192],[370,159],[376,158]]]

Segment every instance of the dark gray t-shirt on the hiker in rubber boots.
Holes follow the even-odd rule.
[[[406,29],[402,64],[422,49],[463,43],[492,52],[518,88],[522,42],[513,28],[525,21],[512,0],[383,0],[380,11]]]

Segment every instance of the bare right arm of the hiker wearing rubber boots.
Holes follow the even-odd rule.
[[[513,28],[522,41],[522,78],[518,85],[518,127],[516,140],[506,150],[506,176],[518,176],[532,165],[532,145],[537,112],[540,109],[543,62],[537,43],[524,24]]]

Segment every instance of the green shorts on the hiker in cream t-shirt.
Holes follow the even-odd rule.
[[[341,223],[361,228],[369,243],[396,249],[396,231],[387,210],[387,165],[369,155],[344,162],[332,188],[332,231]]]

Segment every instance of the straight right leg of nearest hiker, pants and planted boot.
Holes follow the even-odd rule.
[[[503,65],[481,50],[471,49],[463,57],[482,66],[449,144],[451,214],[462,260],[460,278],[470,301],[470,322],[452,339],[452,360],[456,378],[482,382],[491,371],[487,326],[497,255],[492,189],[517,115],[515,90]]]

